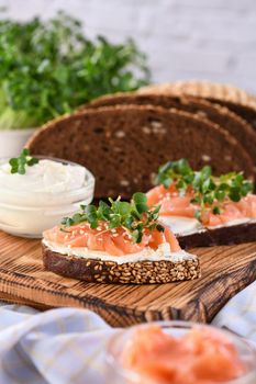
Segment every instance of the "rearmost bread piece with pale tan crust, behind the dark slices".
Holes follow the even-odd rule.
[[[199,80],[177,81],[172,83],[151,84],[140,89],[138,93],[186,94],[203,98],[229,108],[256,129],[255,97],[230,84]]]

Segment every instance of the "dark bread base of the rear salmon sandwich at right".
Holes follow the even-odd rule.
[[[176,236],[181,248],[229,246],[256,241],[256,223],[244,223]]]

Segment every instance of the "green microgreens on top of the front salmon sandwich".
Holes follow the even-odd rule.
[[[64,217],[62,225],[65,229],[87,222],[96,229],[101,222],[105,222],[108,229],[123,227],[132,236],[133,242],[141,242],[145,229],[164,231],[164,227],[157,223],[159,210],[159,205],[149,208],[146,195],[137,192],[130,203],[109,199],[109,203],[100,201],[98,207],[92,204],[81,205],[81,212],[73,217]]]

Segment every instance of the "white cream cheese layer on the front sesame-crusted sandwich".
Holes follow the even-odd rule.
[[[43,239],[43,244],[49,248],[53,252],[58,252],[60,255],[68,255],[78,258],[85,259],[96,259],[102,261],[114,261],[118,264],[123,264],[126,262],[138,262],[138,261],[183,261],[183,260],[193,260],[194,256],[186,252],[185,250],[180,250],[178,252],[171,252],[170,246],[168,242],[164,242],[159,245],[158,249],[154,250],[151,247],[145,247],[141,252],[137,253],[129,253],[124,256],[113,256],[103,251],[90,250],[86,247],[80,248],[70,248],[70,247],[62,247],[57,244],[47,241]]]

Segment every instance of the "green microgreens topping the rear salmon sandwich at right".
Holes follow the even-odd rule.
[[[166,189],[175,183],[180,195],[191,190],[193,194],[191,203],[199,206],[194,213],[198,219],[201,219],[203,211],[220,214],[224,201],[238,202],[254,190],[253,182],[245,180],[243,172],[214,177],[210,166],[194,171],[186,159],[168,161],[162,166],[155,183],[163,184]]]

